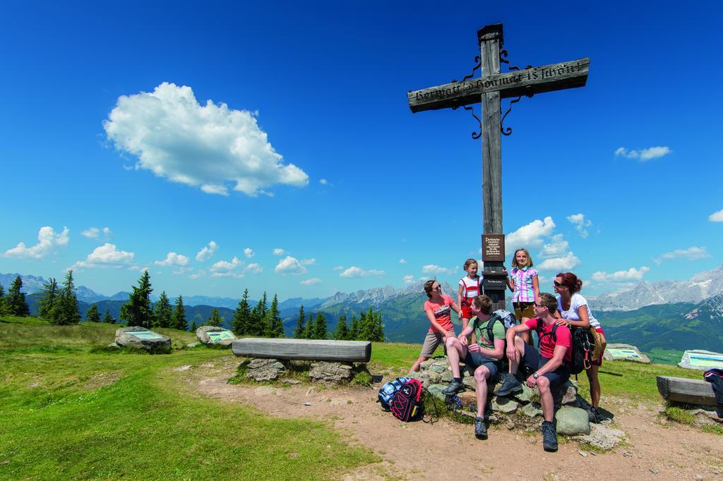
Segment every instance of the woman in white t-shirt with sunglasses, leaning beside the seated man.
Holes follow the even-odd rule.
[[[605,334],[602,326],[600,326],[600,322],[592,315],[586,298],[583,298],[583,296],[579,294],[583,287],[582,280],[578,279],[572,272],[560,272],[560,274],[557,274],[557,277],[555,277],[553,285],[555,287],[555,294],[557,294],[557,309],[562,316],[562,319],[557,321],[557,324],[568,327],[581,327],[582,329],[589,329],[589,326],[593,326],[595,331],[604,339]],[[598,380],[597,373],[602,365],[603,352],[604,347],[600,354],[591,360],[590,368],[585,371],[590,381],[591,420],[594,423],[599,423],[600,420],[600,413],[598,412],[600,405],[600,381]]]

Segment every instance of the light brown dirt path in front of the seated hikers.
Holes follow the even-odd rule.
[[[206,365],[202,376],[198,376],[200,370],[194,370],[197,374],[192,384],[202,394],[250,404],[273,416],[329,421],[384,460],[348,479],[723,479],[723,437],[662,422],[662,404],[631,406],[624,399],[604,398],[604,407],[615,412],[616,428],[627,433],[628,444],[604,454],[581,454],[578,443],[560,437],[560,450],[551,454],[542,450],[541,435],[511,432],[504,425],[491,426],[489,439],[477,441],[471,425],[444,419],[434,425],[401,423],[375,403],[378,386],[359,389],[302,384],[275,388],[226,384],[236,365],[238,360],[234,359],[213,369]],[[515,453],[528,454],[529,465],[536,464],[536,468],[510,466],[508,459]]]

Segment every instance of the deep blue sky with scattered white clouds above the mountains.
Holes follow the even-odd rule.
[[[543,290],[557,270],[591,294],[687,278],[723,262],[722,10],[5,2],[0,272],[282,299],[456,283],[481,144],[406,92],[461,79],[503,22],[513,65],[591,58],[586,87],[505,121],[508,258],[528,247]]]

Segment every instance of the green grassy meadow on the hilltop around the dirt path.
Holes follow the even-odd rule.
[[[174,370],[221,363],[228,350],[187,348],[194,334],[174,329],[158,329],[174,342],[170,355],[109,350],[117,327],[0,320],[0,479],[333,479],[380,460],[328,423],[203,397]],[[406,373],[419,349],[375,343],[369,371]],[[603,394],[659,402],[657,374],[700,378],[611,362]]]

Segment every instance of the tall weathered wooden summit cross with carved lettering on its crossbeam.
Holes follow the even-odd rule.
[[[532,96],[573,87],[587,82],[590,58],[561,64],[528,67],[500,74],[502,24],[487,25],[477,31],[482,77],[465,77],[461,82],[438,85],[407,93],[412,112],[458,108],[482,103],[482,204],[484,261],[484,293],[505,307],[507,274],[502,271],[505,261],[505,236],[502,231],[502,120],[500,99]]]

